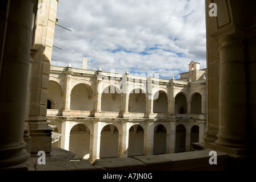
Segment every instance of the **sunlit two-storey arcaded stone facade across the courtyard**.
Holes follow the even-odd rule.
[[[194,61],[179,80],[51,66],[47,118],[62,134],[54,147],[91,162],[190,151],[206,127],[205,76]]]

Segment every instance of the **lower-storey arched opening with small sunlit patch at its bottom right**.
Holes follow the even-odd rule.
[[[75,125],[70,131],[69,151],[76,155],[74,159],[89,159],[90,130],[84,124]]]

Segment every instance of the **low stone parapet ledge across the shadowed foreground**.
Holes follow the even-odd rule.
[[[217,152],[217,164],[210,164],[211,150],[175,154],[135,156],[133,158],[97,159],[92,164],[87,160],[70,160],[36,164],[36,171],[185,171],[225,170],[229,155]]]

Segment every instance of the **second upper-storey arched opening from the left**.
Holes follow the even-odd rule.
[[[93,90],[89,85],[75,85],[70,96],[71,110],[93,110]]]

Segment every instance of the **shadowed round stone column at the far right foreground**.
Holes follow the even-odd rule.
[[[219,44],[219,133],[215,143],[225,147],[244,148],[246,76],[243,33],[223,36],[219,39]]]

